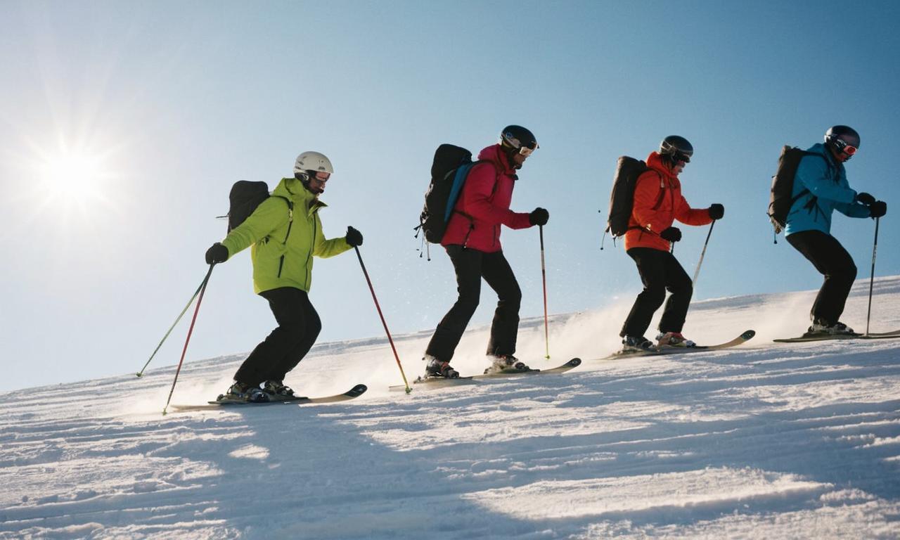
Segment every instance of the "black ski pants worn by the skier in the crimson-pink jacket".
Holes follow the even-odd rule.
[[[498,298],[491,324],[488,354],[512,355],[516,352],[518,309],[522,303],[522,291],[503,252],[485,253],[462,246],[447,246],[446,252],[453,261],[459,298],[437,325],[426,353],[445,362],[453,358],[465,327],[478,308],[484,278]]]

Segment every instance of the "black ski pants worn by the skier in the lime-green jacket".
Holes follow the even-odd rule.
[[[284,381],[284,375],[300,363],[319,337],[322,322],[306,291],[281,287],[259,293],[269,301],[278,328],[247,356],[234,380],[257,386]]]

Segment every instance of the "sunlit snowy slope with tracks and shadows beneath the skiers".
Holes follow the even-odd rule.
[[[868,293],[843,318],[858,330]],[[10,392],[0,538],[900,537],[900,339],[772,343],[814,296],[697,302],[689,338],[758,334],[689,356],[591,360],[617,348],[626,303],[555,317],[553,361],[528,320],[518,356],[584,364],[411,395],[387,390],[384,339],[322,344],[286,383],[369,385],[343,404],[162,416],[173,366]],[[872,320],[900,329],[900,276],[876,281]],[[427,339],[397,338],[410,378]],[[481,371],[486,340],[470,332],[455,367]],[[173,403],[214,398],[242,357],[189,362]]]

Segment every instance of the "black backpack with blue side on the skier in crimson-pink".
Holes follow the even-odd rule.
[[[465,178],[472,167],[482,161],[472,160],[472,152],[452,144],[442,144],[435,150],[431,163],[431,183],[425,192],[425,206],[419,215],[419,227],[432,244],[439,244],[453,213]],[[418,233],[417,233],[418,235]]]

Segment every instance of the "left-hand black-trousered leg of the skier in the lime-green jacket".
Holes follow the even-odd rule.
[[[301,293],[300,289],[293,287],[259,293],[269,302],[278,327],[247,356],[247,360],[244,360],[234,374],[235,381],[258,386],[266,381],[273,367],[301,342],[306,329],[299,302]]]

